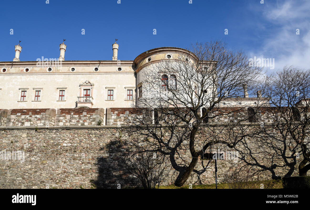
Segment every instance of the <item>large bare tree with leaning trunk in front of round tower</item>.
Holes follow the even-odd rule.
[[[175,186],[186,182],[199,156],[214,149],[233,148],[249,135],[247,128],[233,129],[248,120],[247,116],[242,120],[230,119],[244,108],[238,106],[238,101],[247,96],[245,87],[254,87],[261,75],[261,68],[250,66],[242,51],[229,50],[220,41],[197,43],[183,54],[155,63],[142,73],[144,93],[137,104],[155,110],[155,119],[148,123],[148,130],[157,139],[157,147],[160,150],[165,147],[169,152],[164,153],[171,155],[182,142],[188,141],[192,160],[184,166]],[[225,112],[221,111],[222,106]],[[233,125],[223,131],[228,133],[227,138],[218,136],[221,131],[211,125],[215,121]],[[160,127],[162,131],[163,124],[171,129],[169,137],[157,130]],[[173,133],[179,125],[185,127]],[[204,133],[205,138],[198,133]]]

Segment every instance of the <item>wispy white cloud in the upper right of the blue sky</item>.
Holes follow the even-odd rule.
[[[267,3],[267,2],[266,2]],[[275,71],[285,65],[310,68],[310,1],[281,1],[265,4],[261,11],[272,33],[266,32],[263,47],[254,55],[275,58]],[[299,35],[296,34],[299,29]],[[264,30],[268,30],[267,27]],[[263,33],[263,32],[262,32]],[[267,56],[267,57],[266,57]]]

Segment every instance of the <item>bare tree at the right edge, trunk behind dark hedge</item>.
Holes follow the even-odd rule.
[[[267,76],[262,89],[263,94],[270,98],[270,118],[280,135],[272,129],[265,133],[283,142],[282,151],[289,147],[292,153],[283,155],[301,158],[299,176],[306,176],[310,169],[310,70],[284,67],[282,71]]]

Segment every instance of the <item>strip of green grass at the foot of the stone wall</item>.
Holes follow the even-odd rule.
[[[249,184],[252,186],[253,182],[249,182]],[[281,189],[282,186],[282,180],[264,180],[255,182],[255,187],[253,189],[260,189],[261,184],[264,185],[264,189]],[[182,187],[177,187],[174,185],[167,185],[167,186],[159,186],[159,189],[188,189],[189,185],[184,185]],[[215,189],[215,184],[209,184],[209,185],[192,185],[193,189]],[[227,183],[219,183],[217,184],[218,189],[229,189]]]

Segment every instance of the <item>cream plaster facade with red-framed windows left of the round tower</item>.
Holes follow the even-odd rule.
[[[120,65],[117,61],[62,61],[61,66],[47,67],[38,67],[36,62],[20,61],[13,62],[13,65],[0,62],[2,68],[6,69],[0,72],[2,109],[132,107],[135,102],[133,61],[121,61]],[[25,68],[29,69],[28,72],[24,71]],[[52,71],[48,72],[47,68]],[[72,72],[71,68],[75,70]],[[118,71],[118,68],[122,70]],[[107,90],[110,89],[114,90],[113,100],[108,100]],[[41,91],[38,101],[35,101],[36,90]],[[64,100],[59,100],[60,90],[64,90]],[[83,90],[90,90],[92,104],[77,104],[78,97],[84,96]],[[126,90],[133,90],[133,100],[127,100]],[[24,101],[21,100],[21,91],[27,91]]]

